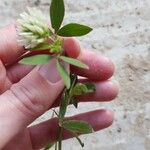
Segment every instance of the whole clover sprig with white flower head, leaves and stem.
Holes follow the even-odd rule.
[[[73,104],[77,108],[77,96],[94,92],[95,86],[93,84],[78,83],[78,76],[69,73],[63,65],[65,62],[81,69],[89,68],[83,62],[66,56],[62,48],[63,42],[61,37],[83,36],[92,31],[92,28],[77,23],[69,23],[62,26],[64,15],[64,1],[51,0],[51,27],[46,22],[46,19],[44,19],[44,15],[41,11],[35,8],[28,8],[28,13],[21,14],[21,19],[18,20],[17,26],[18,42],[26,49],[26,53],[18,59],[19,63],[38,65],[56,59],[57,70],[66,86],[60,101],[59,113],[55,112],[59,120],[60,131],[58,140],[55,143],[56,150],[62,149],[62,135],[64,129],[72,132],[82,147],[84,144],[78,135],[93,132],[91,125],[87,122],[65,119],[67,106]],[[49,144],[45,150],[51,146],[52,144]]]

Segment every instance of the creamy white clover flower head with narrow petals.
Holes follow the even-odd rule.
[[[52,33],[42,12],[36,8],[27,8],[28,12],[17,20],[18,43],[26,49],[33,49],[45,42]]]

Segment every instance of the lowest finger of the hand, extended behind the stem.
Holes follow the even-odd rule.
[[[96,110],[88,113],[79,114],[67,119],[86,121],[91,124],[94,131],[98,131],[112,124],[113,113],[109,110]],[[40,149],[48,143],[55,142],[59,135],[58,128],[58,120],[56,118],[30,127],[29,130],[33,149]],[[73,137],[73,135],[70,132],[64,131],[64,139],[71,137]]]

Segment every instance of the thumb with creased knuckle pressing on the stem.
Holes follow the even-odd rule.
[[[56,60],[37,66],[0,96],[0,149],[43,114],[62,92]]]

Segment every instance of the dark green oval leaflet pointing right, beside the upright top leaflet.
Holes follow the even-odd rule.
[[[71,37],[71,36],[83,36],[88,34],[92,31],[92,28],[77,24],[77,23],[70,23],[62,27],[58,31],[58,35],[65,36],[65,37]]]

